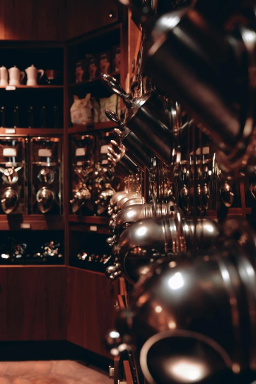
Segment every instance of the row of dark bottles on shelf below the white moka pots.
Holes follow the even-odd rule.
[[[61,113],[58,105],[28,106],[27,109],[15,106],[12,110],[0,108],[0,127],[6,128],[60,128]]]

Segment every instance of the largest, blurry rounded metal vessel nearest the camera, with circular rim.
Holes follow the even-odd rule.
[[[225,383],[227,371],[256,372],[255,290],[253,266],[236,242],[167,257],[138,282],[117,330],[140,351],[150,384]]]

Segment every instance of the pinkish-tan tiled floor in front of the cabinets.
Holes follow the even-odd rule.
[[[76,361],[0,362],[0,384],[113,384],[108,377]]]

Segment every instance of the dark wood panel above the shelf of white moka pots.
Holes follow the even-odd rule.
[[[0,0],[0,40],[64,41],[65,6],[62,0]]]

